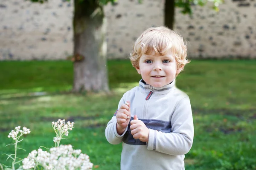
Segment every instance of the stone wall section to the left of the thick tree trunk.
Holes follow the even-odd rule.
[[[0,1],[0,59],[65,59],[73,51],[73,4]]]

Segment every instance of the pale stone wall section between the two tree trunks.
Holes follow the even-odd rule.
[[[151,26],[163,25],[164,0],[119,0],[105,7],[108,20],[108,57],[129,57],[132,45]]]

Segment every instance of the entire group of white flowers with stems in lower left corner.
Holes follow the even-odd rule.
[[[15,130],[12,130],[11,133],[9,133],[8,138],[12,137],[12,139],[15,140],[15,154],[6,154],[9,156],[8,158],[13,159],[12,169],[15,169],[16,164],[20,164],[19,162],[22,161],[22,166],[19,167],[19,170],[20,168],[23,168],[24,170],[35,170],[39,167],[44,170],[91,170],[93,164],[90,162],[88,155],[81,153],[81,150],[73,150],[71,145],[59,146],[61,139],[64,139],[62,137],[64,135],[68,136],[68,130],[73,129],[74,122],[67,122],[67,124],[65,124],[64,119],[58,119],[58,122],[52,122],[52,127],[56,133],[56,137],[53,138],[55,147],[49,149],[49,152],[44,151],[41,148],[33,150],[25,159],[17,162],[17,144],[23,140],[19,139],[23,134],[29,134],[30,130],[26,127],[23,127],[21,130],[20,126],[18,126],[15,127]],[[14,158],[12,155],[14,155]]]

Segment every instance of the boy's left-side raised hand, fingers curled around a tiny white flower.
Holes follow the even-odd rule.
[[[127,101],[127,103],[128,105],[122,104],[116,113],[116,130],[119,135],[125,131],[131,119],[130,102]]]

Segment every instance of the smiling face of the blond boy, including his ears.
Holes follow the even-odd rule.
[[[158,88],[170,84],[182,68],[177,68],[175,57],[171,54],[143,54],[136,70],[147,84]]]

